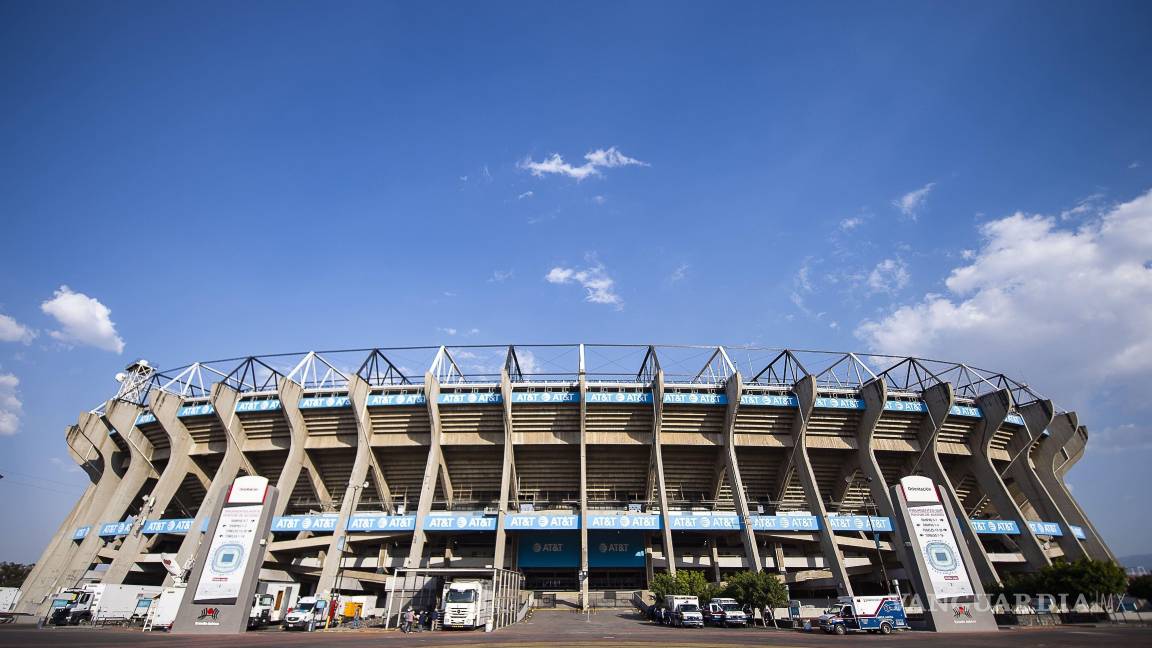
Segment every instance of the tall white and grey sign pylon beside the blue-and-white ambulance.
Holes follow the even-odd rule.
[[[892,488],[896,523],[904,542],[904,565],[916,592],[923,596],[924,615],[937,632],[988,632],[996,630],[984,587],[971,574],[972,556],[957,541],[956,514],[937,484],[908,476]]]

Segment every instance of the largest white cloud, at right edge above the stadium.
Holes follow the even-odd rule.
[[[1105,379],[1121,390],[1144,384],[1152,372],[1152,191],[1077,228],[1015,213],[980,231],[980,249],[952,271],[947,294],[857,327],[870,351],[1034,377],[1038,390],[1061,398],[1083,399]]]

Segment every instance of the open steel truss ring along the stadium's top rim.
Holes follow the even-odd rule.
[[[999,390],[1023,405],[1043,397],[1003,374],[963,362],[923,357],[749,346],[703,345],[464,345],[253,355],[194,362],[174,369],[134,364],[118,378],[118,400],[144,405],[154,389],[184,399],[207,398],[222,383],[243,394],[274,392],[287,378],[305,391],[340,392],[357,376],[371,387],[402,387],[435,380],[442,386],[495,384],[647,384],[657,375],[669,387],[719,389],[740,374],[748,387],[788,390],[813,377],[821,392],[851,393],[882,380],[890,395],[916,397],[950,383],[956,398],[975,400]],[[103,412],[103,405],[93,412]]]

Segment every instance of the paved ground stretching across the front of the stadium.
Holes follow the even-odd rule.
[[[0,626],[0,646],[43,646],[76,648],[79,646],[165,646],[205,647],[237,646],[237,636],[190,636],[142,633],[116,627],[61,627],[37,630],[31,625]],[[411,646],[508,646],[518,648],[564,648],[606,646],[660,646],[662,648],[700,648],[706,646],[858,646],[861,642],[899,646],[947,646],[948,648],[998,648],[1009,646],[1079,647],[1079,646],[1152,646],[1152,628],[1101,626],[1063,626],[1014,628],[983,634],[933,634],[904,632],[890,636],[829,636],[823,632],[803,633],[772,628],[674,628],[655,626],[629,612],[605,611],[594,615],[540,611],[525,621],[500,632],[424,632],[401,634],[396,631],[329,631],[319,633],[250,632],[242,638],[244,646],[339,646],[367,647],[382,645]]]

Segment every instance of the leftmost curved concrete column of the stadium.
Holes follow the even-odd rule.
[[[68,443],[68,452],[88,474],[91,483],[84,490],[84,495],[73,506],[71,512],[56,529],[56,534],[48,542],[48,545],[36,562],[32,571],[21,585],[21,598],[17,602],[16,612],[32,615],[36,613],[40,604],[48,600],[54,593],[56,581],[63,572],[68,558],[77,549],[77,542],[73,540],[76,529],[85,526],[92,518],[92,511],[101,504],[101,496],[108,492],[107,487],[101,488],[105,480],[104,474],[109,473],[108,480],[119,481],[119,475],[106,469],[104,460],[96,446],[81,432],[79,425],[70,425],[65,435]],[[90,529],[89,533],[94,533]]]

